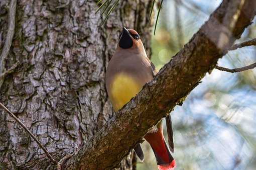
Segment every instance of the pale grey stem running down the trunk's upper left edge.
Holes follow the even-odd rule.
[[[2,54],[0,55],[0,74],[4,72],[5,60],[8,56],[9,50],[12,45],[13,37],[14,37],[16,4],[17,4],[17,0],[11,0],[9,13],[8,13],[8,31],[6,34],[6,41],[2,50]],[[3,84],[3,81],[4,79],[0,79],[0,88]]]

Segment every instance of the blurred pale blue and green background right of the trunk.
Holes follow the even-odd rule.
[[[152,41],[151,59],[158,69],[189,41],[220,2],[164,0]],[[236,43],[255,38],[255,28],[252,23]],[[235,68],[253,62],[256,47],[249,46],[229,51],[218,65]],[[256,169],[255,90],[256,69],[238,73],[214,69],[203,78],[172,112],[177,169]],[[157,169],[147,141],[143,148],[145,160],[137,168]]]

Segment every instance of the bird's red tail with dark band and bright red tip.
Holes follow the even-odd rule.
[[[160,170],[173,170],[176,162],[166,144],[163,129],[159,128],[156,132],[149,132],[145,139],[150,143]]]

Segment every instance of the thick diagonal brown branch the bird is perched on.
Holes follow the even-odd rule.
[[[223,0],[200,30],[132,101],[67,162],[68,169],[111,169],[216,65],[256,14],[255,0]],[[95,161],[96,160],[96,161]]]

